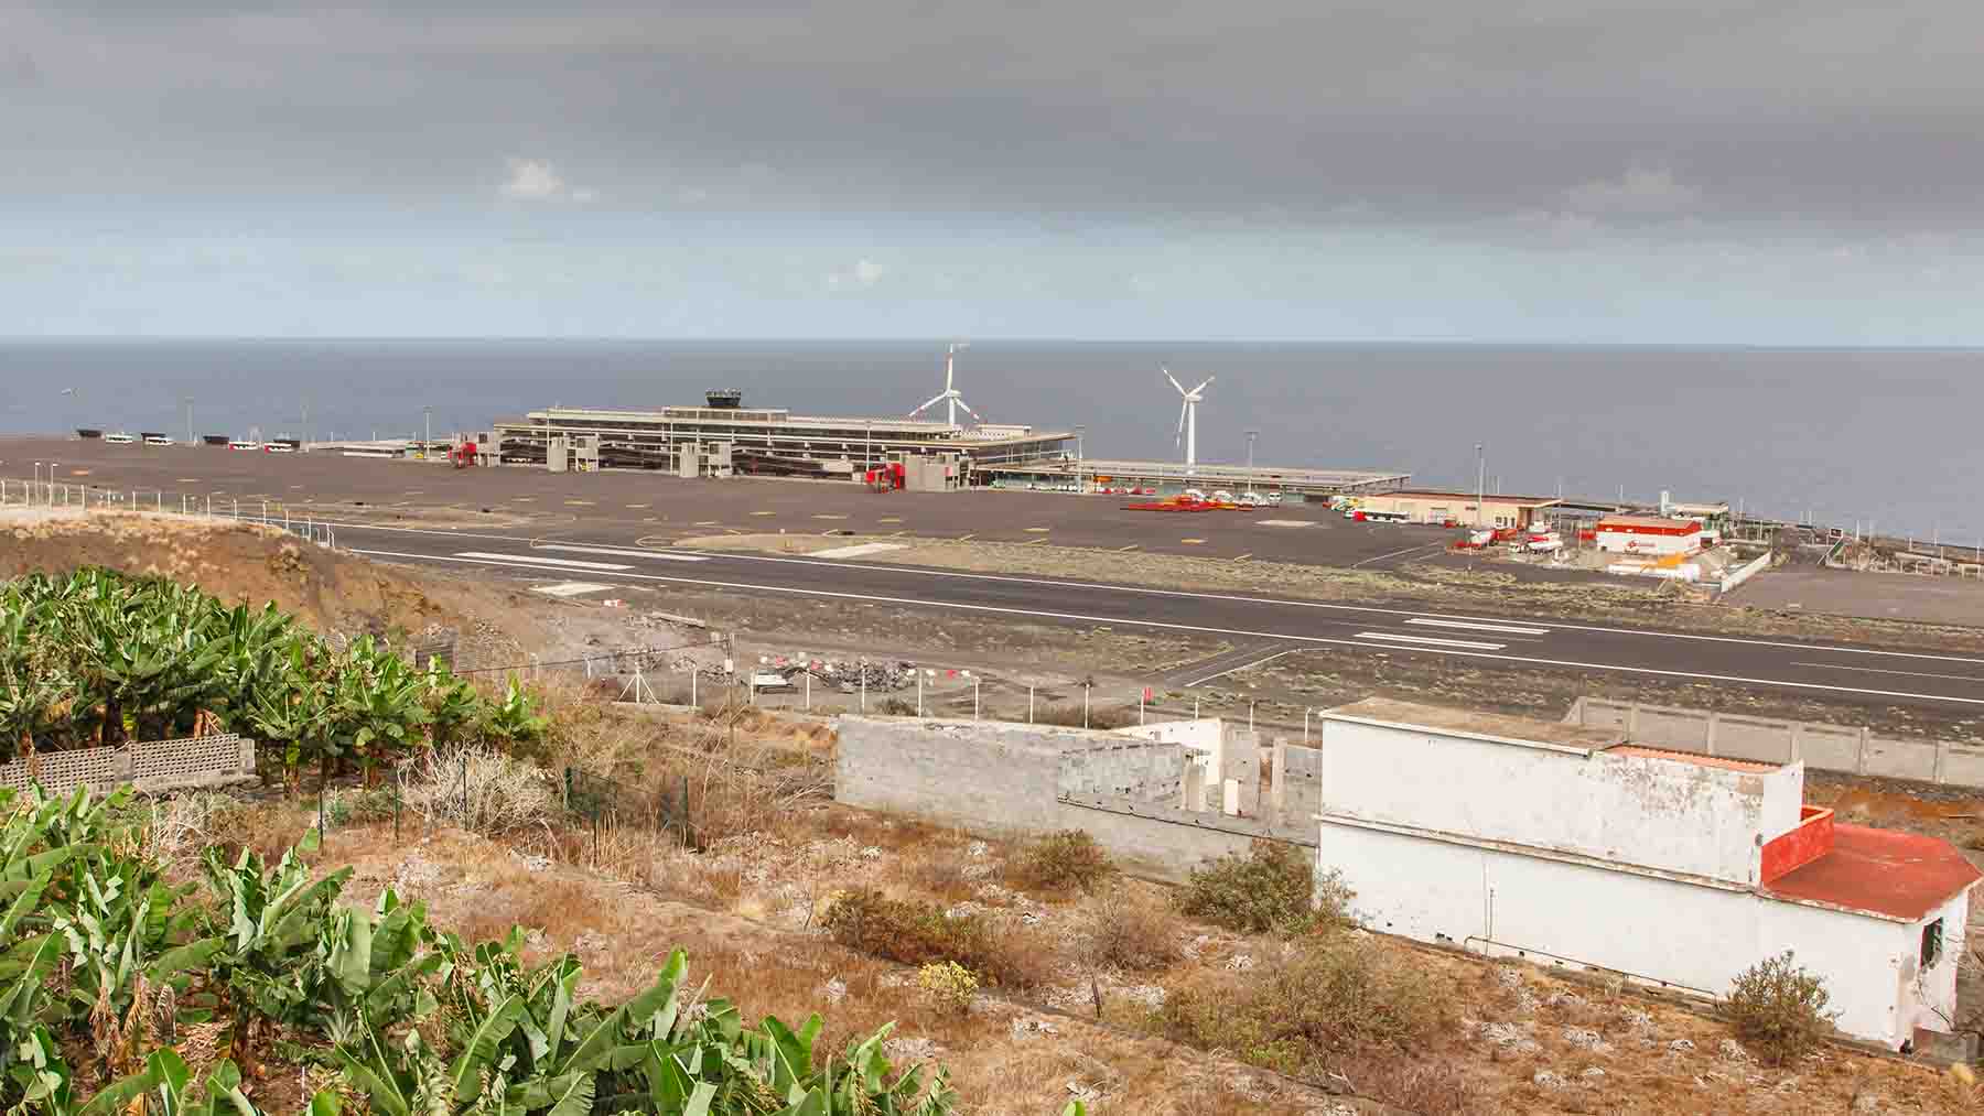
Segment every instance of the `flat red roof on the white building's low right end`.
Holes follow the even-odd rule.
[[[1831,852],[1778,876],[1764,894],[1913,922],[1980,878],[1948,840],[1835,825]]]

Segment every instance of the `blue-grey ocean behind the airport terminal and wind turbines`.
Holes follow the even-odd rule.
[[[1728,500],[1881,533],[1984,539],[1984,351],[980,341],[958,389],[988,422],[1073,428],[1091,458],[1403,470],[1508,494]],[[907,414],[944,345],[909,341],[0,341],[0,434],[436,434],[567,406],[698,402]],[[65,391],[67,389],[67,391]],[[306,420],[308,408],[308,420]],[[12,466],[0,468],[8,472]]]

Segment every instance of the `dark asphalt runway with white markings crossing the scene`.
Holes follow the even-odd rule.
[[[1042,577],[958,573],[815,557],[587,545],[403,527],[337,529],[339,545],[381,561],[480,567],[512,575],[684,585],[944,609],[980,616],[1208,634],[1236,644],[1167,676],[1178,686],[1311,648],[1438,654],[1484,666],[1591,670],[1682,682],[1770,686],[1863,702],[1984,708],[1984,656],[1877,650],[1601,624],[1434,613],[1258,595],[1145,589]]]

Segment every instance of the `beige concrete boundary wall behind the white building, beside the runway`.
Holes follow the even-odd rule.
[[[1583,727],[1621,729],[1633,743],[1674,751],[1764,763],[1801,759],[1819,771],[1984,787],[1984,747],[1881,737],[1853,725],[1641,706],[1605,698],[1579,698],[1563,720]]]

